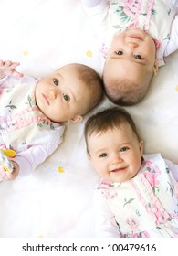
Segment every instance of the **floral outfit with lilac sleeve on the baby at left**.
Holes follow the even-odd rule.
[[[0,148],[15,149],[15,161],[26,173],[57,149],[65,128],[38,109],[36,84],[27,76],[0,80]]]

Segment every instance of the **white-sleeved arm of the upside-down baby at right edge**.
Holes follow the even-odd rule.
[[[170,55],[176,49],[178,49],[178,15],[173,20],[170,40],[165,49],[164,56]]]

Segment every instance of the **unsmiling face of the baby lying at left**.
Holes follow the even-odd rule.
[[[86,100],[82,81],[70,65],[39,80],[35,94],[41,112],[54,122],[66,122],[80,115]]]

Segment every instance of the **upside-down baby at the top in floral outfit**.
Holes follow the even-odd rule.
[[[173,2],[82,0],[87,12],[96,9],[95,20],[96,13],[108,13],[103,81],[113,103],[133,105],[141,101],[164,57],[178,48],[178,16]]]

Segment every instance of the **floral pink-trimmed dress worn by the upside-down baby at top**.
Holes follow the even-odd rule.
[[[141,28],[148,32],[155,41],[159,65],[164,64],[163,53],[170,38],[175,8],[168,5],[168,0],[111,0],[110,31],[107,35],[107,51],[114,34],[128,27]],[[104,49],[103,49],[104,50]]]

